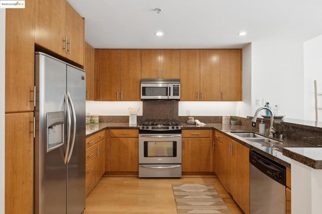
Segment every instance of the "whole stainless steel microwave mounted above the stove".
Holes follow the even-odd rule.
[[[180,99],[180,79],[141,79],[141,99]]]

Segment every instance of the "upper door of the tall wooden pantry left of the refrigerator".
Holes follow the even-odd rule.
[[[34,7],[6,10],[6,113],[34,111]]]

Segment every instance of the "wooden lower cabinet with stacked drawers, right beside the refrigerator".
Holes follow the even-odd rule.
[[[105,130],[86,138],[86,195],[105,172]]]

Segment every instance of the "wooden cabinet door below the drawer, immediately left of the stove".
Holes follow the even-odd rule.
[[[138,138],[111,138],[111,171],[138,172]]]

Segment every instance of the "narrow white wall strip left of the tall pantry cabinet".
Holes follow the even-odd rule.
[[[0,23],[0,213],[5,213],[5,9],[0,9]]]

